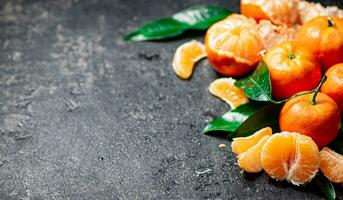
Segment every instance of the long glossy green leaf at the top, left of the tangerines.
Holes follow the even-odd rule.
[[[186,30],[205,30],[213,23],[227,17],[231,11],[210,5],[193,6],[171,18],[151,21],[124,36],[124,40],[160,40],[181,35]]]

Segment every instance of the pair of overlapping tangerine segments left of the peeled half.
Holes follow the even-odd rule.
[[[261,151],[263,145],[271,135],[272,129],[267,127],[249,137],[234,138],[231,148],[238,155],[238,166],[249,173],[262,171]]]

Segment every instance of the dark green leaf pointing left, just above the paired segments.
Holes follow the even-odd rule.
[[[226,137],[231,139],[251,135],[267,126],[277,131],[281,107],[281,104],[250,102],[213,120],[205,127],[203,133],[219,135],[219,131],[224,131]]]

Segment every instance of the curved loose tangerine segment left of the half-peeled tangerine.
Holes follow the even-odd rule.
[[[205,46],[196,40],[186,42],[176,49],[173,59],[173,69],[182,79],[188,79],[195,63],[206,57]]]

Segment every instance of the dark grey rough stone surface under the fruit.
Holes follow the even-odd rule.
[[[0,1],[0,199],[323,199],[240,173],[218,148],[229,141],[201,134],[229,109],[207,91],[217,75],[207,61],[190,81],[171,69],[201,34],[121,39],[199,3],[213,1]]]

